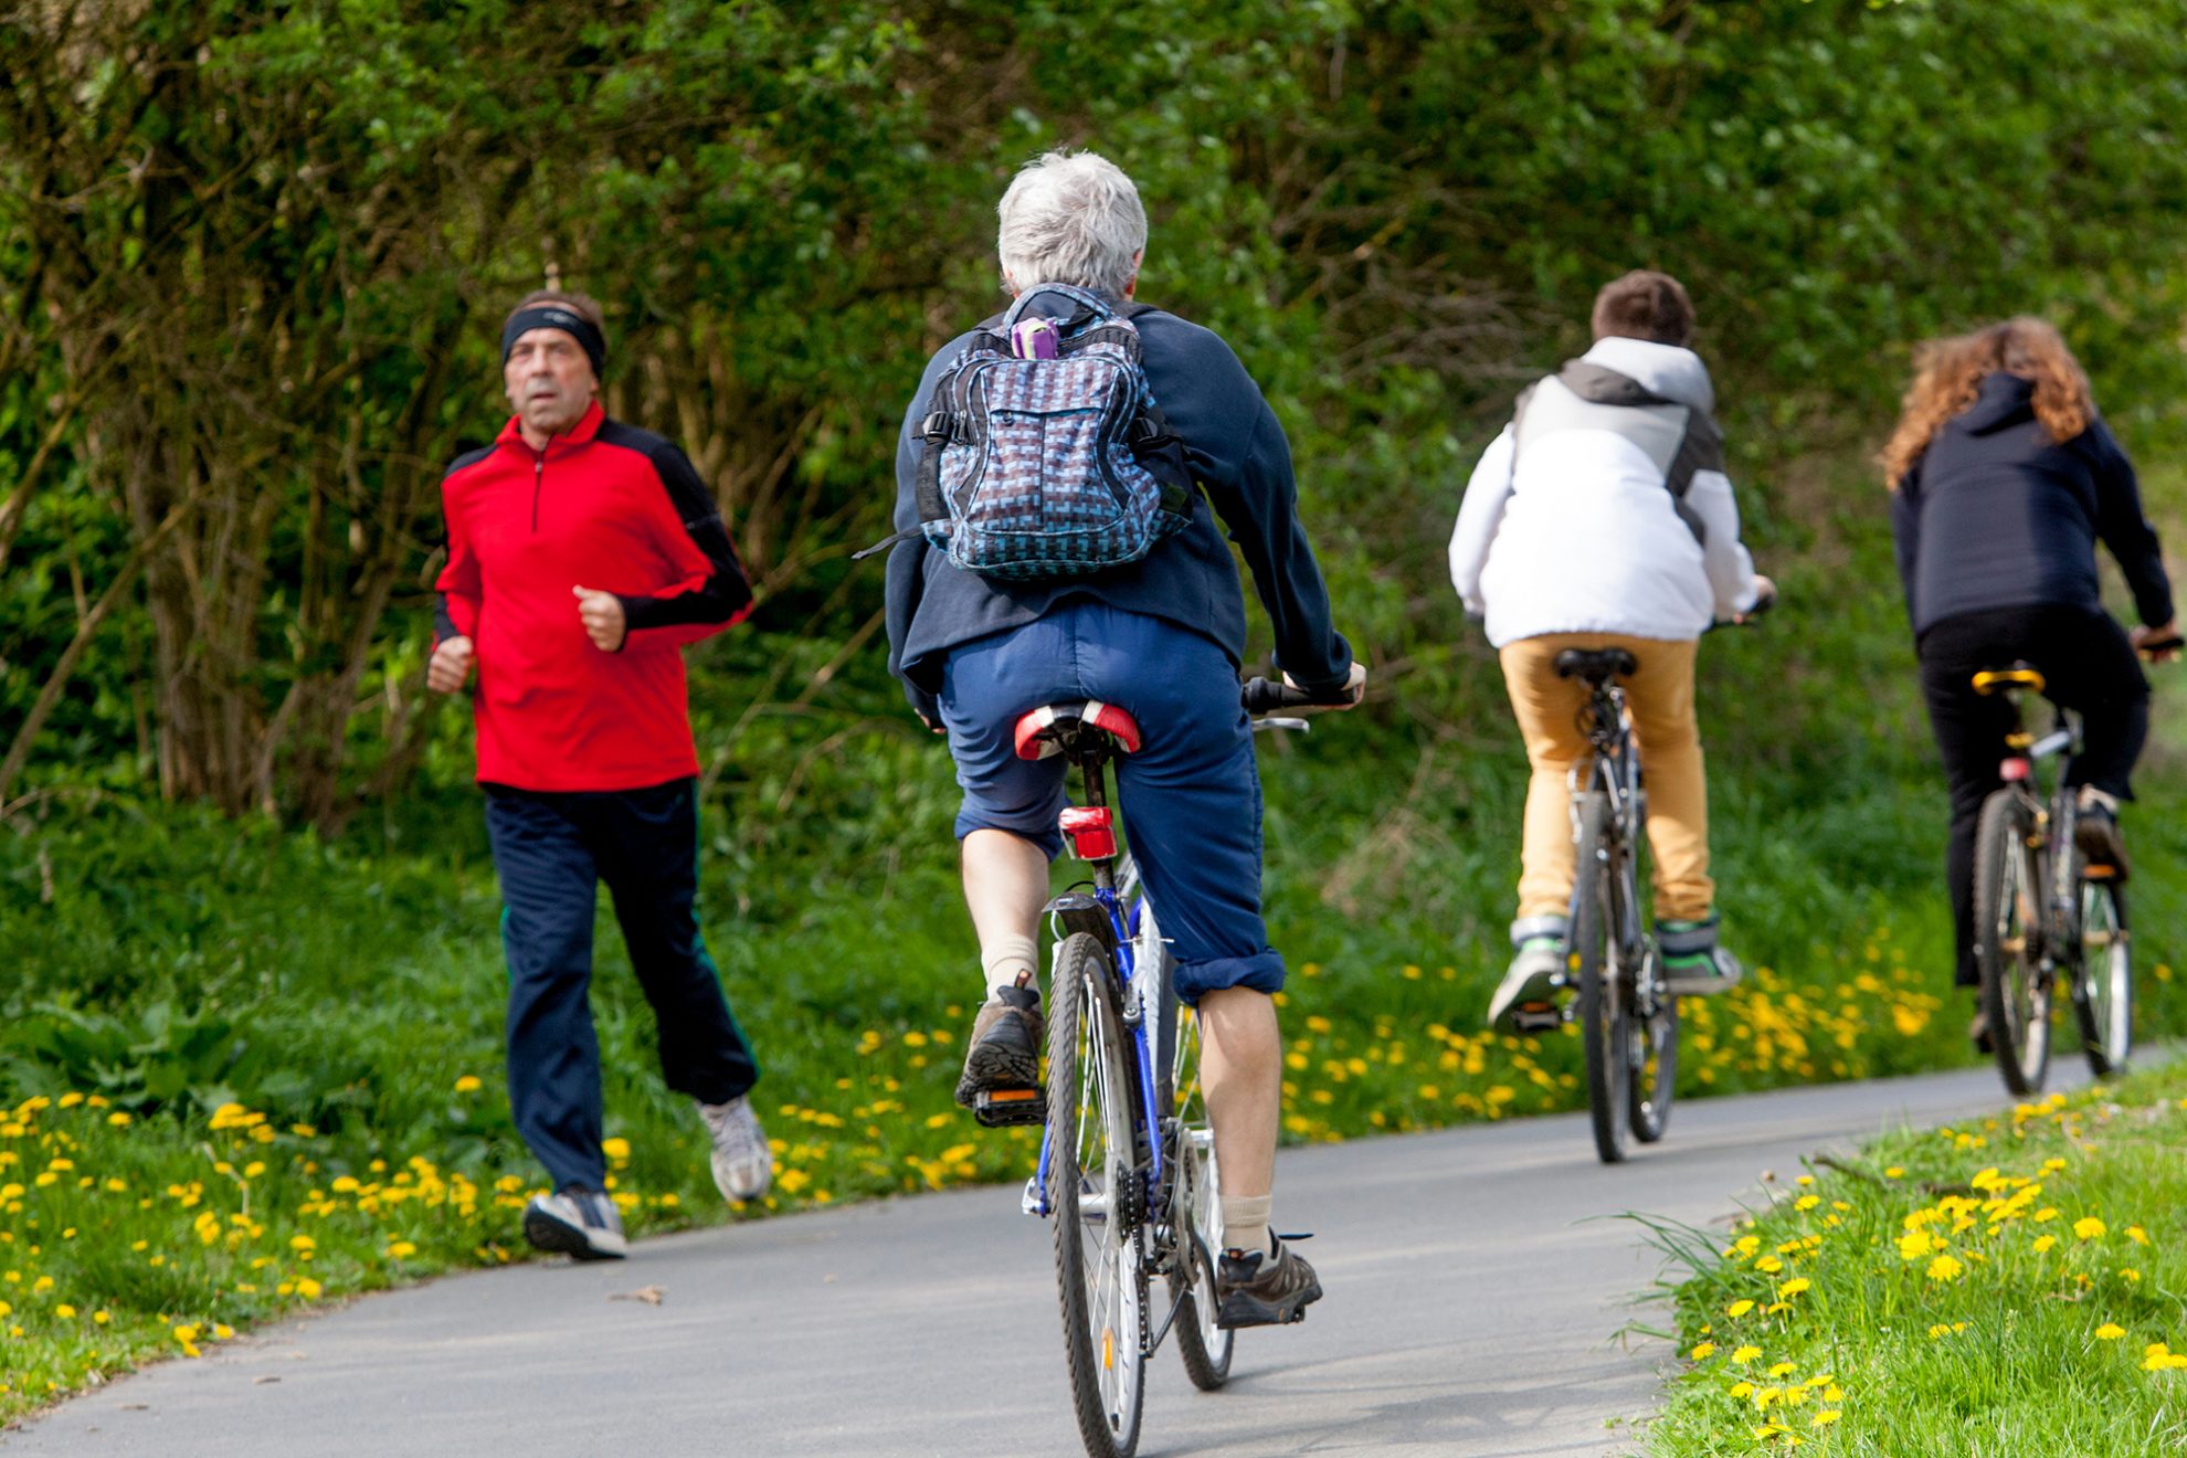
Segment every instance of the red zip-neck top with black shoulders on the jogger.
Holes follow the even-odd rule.
[[[440,503],[435,640],[472,640],[479,780],[573,791],[698,774],[680,649],[744,621],[752,588],[689,457],[595,400],[545,452],[510,420],[448,468]],[[575,586],[621,599],[619,651],[586,638]]]

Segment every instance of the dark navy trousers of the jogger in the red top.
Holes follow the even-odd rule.
[[[724,1104],[759,1082],[752,1045],[698,933],[698,787],[551,793],[488,785],[486,828],[510,960],[510,1113],[555,1189],[604,1189],[590,1001],[601,881],[654,1006],[669,1089]]]

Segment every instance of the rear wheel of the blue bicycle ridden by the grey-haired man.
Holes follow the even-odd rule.
[[[1115,1014],[1109,949],[1056,951],[1048,1010],[1048,1198],[1078,1436],[1131,1458],[1146,1399],[1146,1233],[1133,1150],[1137,1078]]]

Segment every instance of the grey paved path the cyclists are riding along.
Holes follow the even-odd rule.
[[[2054,1086],[2075,1078],[2058,1060]],[[1170,1347],[1142,1451],[1625,1454],[1671,1351],[1647,1211],[1723,1222],[1756,1178],[1898,1121],[2008,1108],[1990,1069],[1680,1104],[1594,1161],[1586,1115],[1286,1152],[1277,1222],[1328,1296],[1201,1395]],[[617,1294],[660,1287],[660,1305]],[[267,1327],[0,1434],[15,1458],[1076,1454],[1048,1226],[969,1189],[650,1239]]]

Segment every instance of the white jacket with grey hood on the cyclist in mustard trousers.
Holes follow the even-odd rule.
[[[1570,383],[1590,378],[1607,389],[1575,393]],[[1522,396],[1474,468],[1450,538],[1450,581],[1467,612],[1487,616],[1489,643],[1553,632],[1686,640],[1754,608],[1712,407],[1701,358],[1645,339],[1599,339]],[[1669,479],[1688,483],[1684,498]]]

